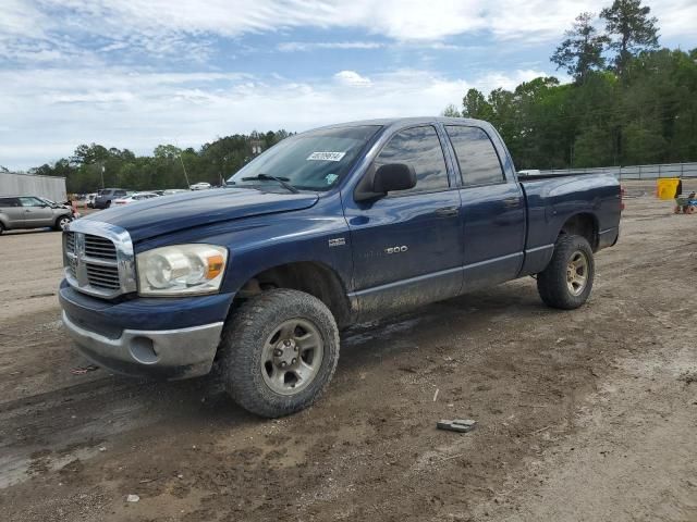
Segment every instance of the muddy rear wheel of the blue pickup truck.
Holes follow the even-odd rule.
[[[580,236],[562,235],[551,261],[537,274],[537,291],[547,306],[573,310],[588,299],[595,272],[588,241]]]

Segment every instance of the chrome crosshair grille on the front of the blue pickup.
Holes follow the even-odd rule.
[[[108,223],[75,221],[63,234],[65,278],[77,290],[112,298],[135,291],[131,237]]]

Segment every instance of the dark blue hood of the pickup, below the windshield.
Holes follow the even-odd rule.
[[[265,192],[252,188],[221,188],[161,196],[95,212],[83,217],[129,231],[134,243],[183,228],[222,221],[302,210],[314,206],[315,194]]]

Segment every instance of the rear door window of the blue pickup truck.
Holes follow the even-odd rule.
[[[465,186],[505,182],[499,154],[487,133],[479,127],[460,125],[448,125],[445,130],[455,149]]]

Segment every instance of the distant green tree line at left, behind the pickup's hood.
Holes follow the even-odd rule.
[[[108,149],[98,144],[80,145],[72,157],[29,172],[65,177],[68,191],[72,194],[93,192],[102,186],[157,190],[188,188],[187,185],[199,182],[221,185],[260,150],[289,135],[286,130],[235,134],[205,144],[198,150],[159,145],[152,156],[136,156],[129,149]]]

